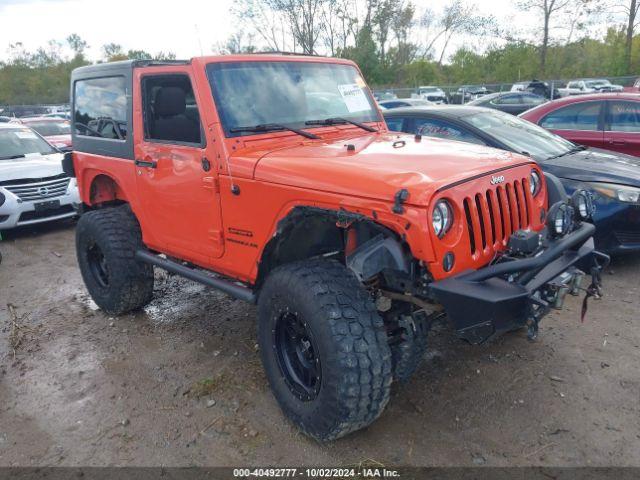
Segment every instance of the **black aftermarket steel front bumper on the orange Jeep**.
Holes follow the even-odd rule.
[[[433,283],[431,290],[458,335],[471,343],[519,327],[537,329],[540,318],[561,303],[559,295],[564,296],[568,285],[583,275],[576,264],[590,262],[595,275],[601,269],[596,259],[608,262],[594,248],[594,231],[592,224],[583,223],[534,257],[463,272]]]

